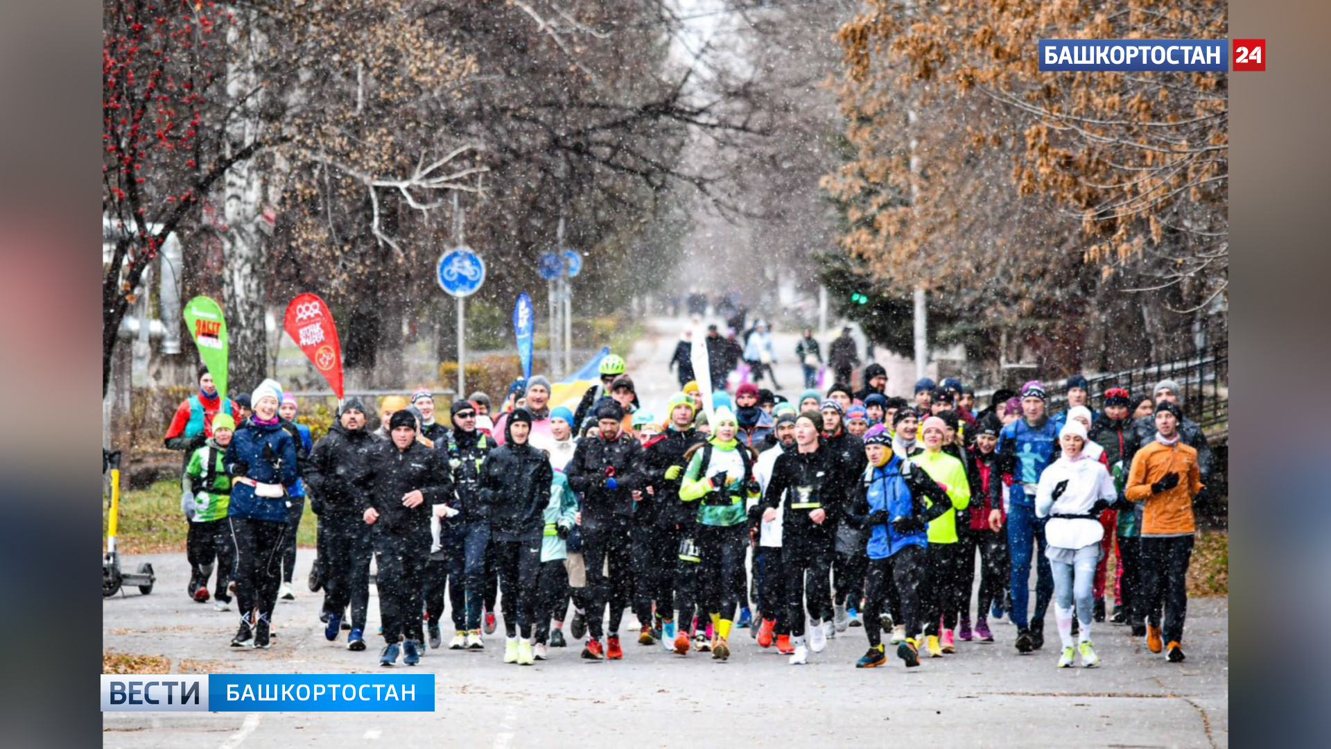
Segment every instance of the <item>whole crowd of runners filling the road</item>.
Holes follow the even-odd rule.
[[[740,361],[771,373],[765,327],[732,349],[724,364],[709,357],[715,382]],[[570,640],[583,658],[620,660],[626,630],[717,661],[747,630],[749,646],[805,664],[864,628],[856,666],[886,664],[884,640],[918,666],[958,641],[993,642],[1005,617],[1020,653],[1040,650],[1050,602],[1059,668],[1099,662],[1091,632],[1106,620],[1183,660],[1210,450],[1175,382],[1109,388],[1095,410],[1086,380],[1070,377],[1069,408],[1050,414],[1030,381],[977,409],[954,378],[888,396],[877,364],[856,390],[858,361],[840,349],[837,381],[815,389],[823,359],[805,332],[793,353],[809,388],[796,398],[744,381],[715,390],[708,412],[677,356],[680,392],[640,402],[610,355],[575,409],[551,408],[542,376],[498,406],[479,392],[454,400],[449,426],[429,390],[378,408],[353,397],[313,444],[278,382],[220,398],[204,369],[166,434],[185,452],[188,593],[224,612],[234,601],[232,645],[268,648],[277,600],[294,597],[307,498],[325,636],[345,632],[351,650],[381,638],[383,666],[491,648],[496,605],[503,661],[520,665]],[[366,618],[371,557],[378,633]]]

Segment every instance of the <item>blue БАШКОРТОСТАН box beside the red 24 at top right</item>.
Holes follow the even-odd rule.
[[[1225,39],[1041,39],[1041,71],[1229,71]]]

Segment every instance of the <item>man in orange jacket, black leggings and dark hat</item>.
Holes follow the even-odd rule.
[[[1193,498],[1202,490],[1197,450],[1179,440],[1183,420],[1178,405],[1161,401],[1155,406],[1155,438],[1133,457],[1125,496],[1146,502],[1142,517],[1142,589],[1149,604],[1146,646],[1162,649],[1169,642],[1171,662],[1183,661],[1183,618],[1187,614],[1187,565],[1193,557],[1197,521]]]

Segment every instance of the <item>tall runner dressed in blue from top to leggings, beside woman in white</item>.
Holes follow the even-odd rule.
[[[1012,622],[1017,625],[1017,652],[1029,653],[1045,645],[1045,612],[1054,592],[1054,578],[1045,557],[1045,528],[1036,518],[1036,485],[1054,458],[1058,432],[1045,414],[1045,386],[1032,380],[1021,388],[1022,417],[998,433],[1000,468],[1012,474],[1006,498],[1002,481],[990,481],[1000,492],[1008,522],[1008,553],[1012,562]],[[1036,612],[1030,609],[1032,548],[1036,548]]]

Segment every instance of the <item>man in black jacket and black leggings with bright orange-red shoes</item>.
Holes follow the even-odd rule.
[[[624,409],[608,401],[598,406],[600,434],[578,442],[572,460],[564,466],[568,485],[582,497],[583,558],[587,561],[587,588],[591,608],[587,610],[587,646],[583,657],[600,660],[602,617],[610,602],[610,637],[604,657],[619,660],[619,624],[628,606],[631,558],[630,525],[634,517],[634,489],[642,482],[636,474],[642,445],[632,434],[620,430]],[[604,564],[610,561],[610,580]]]

